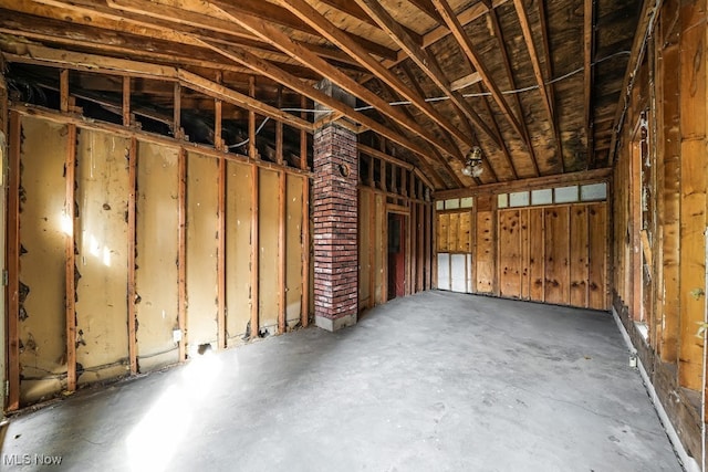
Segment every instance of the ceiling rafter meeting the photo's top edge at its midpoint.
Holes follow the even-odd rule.
[[[489,129],[487,124],[479,115],[469,106],[467,101],[458,93],[450,90],[450,83],[438,65],[435,57],[406,33],[400,24],[386,11],[386,9],[376,0],[356,0],[358,6],[366,11],[378,25],[393,39],[408,56],[420,67],[425,74],[445,93],[450,102],[452,102],[465,115],[471,119],[477,127],[483,132],[497,146],[500,145],[497,136]],[[455,156],[447,151],[447,154]]]

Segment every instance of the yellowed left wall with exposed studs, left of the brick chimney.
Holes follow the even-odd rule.
[[[20,220],[21,269],[10,274],[20,294],[15,313],[20,348],[10,359],[17,367],[10,381],[12,388],[19,387],[19,405],[71,390],[72,377],[81,386],[127,375],[132,363],[136,371],[145,373],[194,356],[200,345],[226,347],[217,343],[220,323],[225,344],[231,346],[259,333],[274,334],[281,312],[288,327],[301,322],[306,286],[302,274],[309,273],[303,270],[309,242],[302,231],[308,222],[306,175],[261,168],[254,189],[257,162],[235,160],[223,167],[226,317],[220,321],[220,156],[196,146],[185,149],[166,138],[113,130],[113,125],[93,126],[42,113],[33,117],[24,107],[13,113],[19,126],[10,141],[19,157],[15,168],[21,169],[15,179],[20,211],[12,216]],[[75,159],[74,172],[65,167],[70,156]],[[285,172],[282,187],[281,172]],[[73,186],[66,181],[72,174]],[[133,212],[128,206],[134,190]],[[65,204],[72,193],[74,201]],[[260,302],[258,326],[251,328],[253,221],[260,232]],[[73,266],[67,264],[71,260]],[[281,262],[284,286],[278,283]],[[65,304],[71,273],[74,303]],[[135,296],[128,300],[133,273]],[[75,334],[67,338],[72,329]]]

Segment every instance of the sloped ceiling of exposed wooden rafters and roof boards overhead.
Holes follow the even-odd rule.
[[[158,122],[175,76],[191,115],[212,114],[198,92],[217,90],[233,103],[250,95],[248,109],[294,128],[346,118],[362,143],[452,189],[610,166],[641,10],[637,0],[0,0],[0,50],[18,90],[58,90],[53,67],[72,69],[72,94],[108,109],[129,75],[134,108]],[[323,80],[356,105],[325,95]],[[313,104],[333,113],[302,113]],[[225,119],[247,119],[242,109]],[[473,146],[479,177],[461,172]]]

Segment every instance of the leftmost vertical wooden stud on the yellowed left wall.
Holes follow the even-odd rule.
[[[20,114],[10,113],[10,156],[8,159],[8,410],[20,408],[20,156],[22,125]]]

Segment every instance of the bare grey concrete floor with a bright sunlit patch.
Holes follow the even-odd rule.
[[[49,470],[42,455],[102,472],[681,470],[610,315],[442,292],[13,418],[0,469]]]

